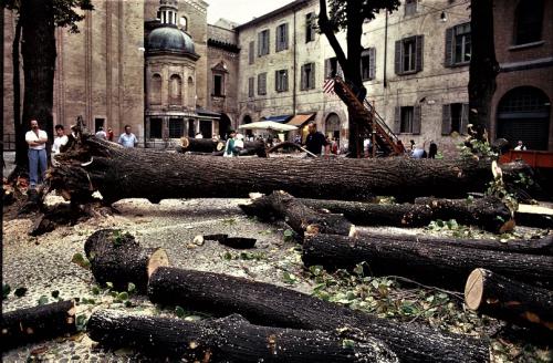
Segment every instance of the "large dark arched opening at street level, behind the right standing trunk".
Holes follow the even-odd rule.
[[[498,105],[498,138],[511,146],[521,139],[529,149],[545,151],[549,143],[550,101],[540,89],[517,87]]]

